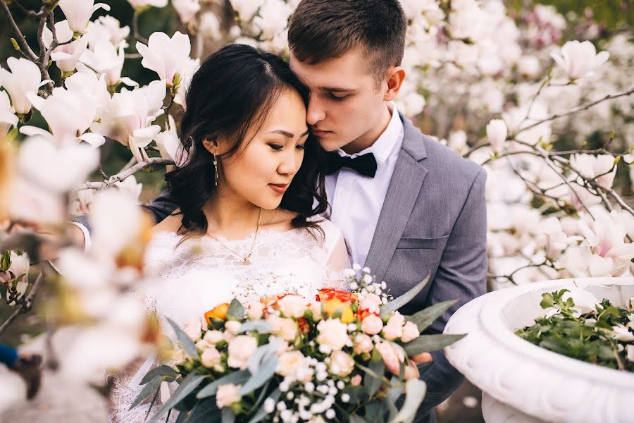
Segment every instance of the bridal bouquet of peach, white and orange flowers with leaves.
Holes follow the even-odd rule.
[[[144,377],[132,407],[154,403],[163,381],[177,381],[150,423],[173,409],[178,422],[411,421],[425,397],[411,357],[431,360],[428,352],[462,337],[421,335],[454,302],[404,316],[397,309],[427,279],[390,299],[369,269],[347,276],[353,292],[325,288],[312,300],[280,294],[249,305],[232,300],[207,312],[204,324],[180,329],[170,321],[180,348],[169,365]]]

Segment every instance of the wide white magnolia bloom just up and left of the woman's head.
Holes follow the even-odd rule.
[[[154,32],[147,45],[137,42],[137,51],[143,56],[141,64],[158,73],[168,87],[175,83],[176,75],[182,76],[181,68],[190,50],[189,37],[178,31],[171,38],[164,32]]]

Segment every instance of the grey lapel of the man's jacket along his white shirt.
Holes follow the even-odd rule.
[[[406,118],[401,116],[401,119],[403,144],[365,263],[378,281],[383,281],[427,174],[427,169],[418,162],[427,156],[423,135]]]

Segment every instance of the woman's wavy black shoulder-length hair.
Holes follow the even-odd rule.
[[[218,159],[240,151],[249,134],[258,132],[268,111],[285,90],[294,90],[308,106],[309,90],[275,54],[241,44],[230,44],[211,54],[194,73],[185,97],[180,141],[189,150],[181,167],[166,174],[170,196],[180,209],[179,233],[204,235],[207,219],[204,204],[216,188],[212,155],[203,145],[207,139],[224,138],[230,148]],[[190,148],[192,147],[192,148]],[[309,135],[304,161],[282,197],[280,207],[297,213],[295,228],[314,228],[323,233],[311,216],[328,209],[325,198],[323,149]]]

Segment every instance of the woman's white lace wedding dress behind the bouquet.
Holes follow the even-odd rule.
[[[237,298],[242,304],[263,296],[295,293],[314,298],[325,286],[342,286],[342,270],[348,266],[346,246],[340,230],[330,221],[318,225],[324,236],[305,228],[291,231],[259,231],[244,240],[204,237],[182,240],[182,235],[159,232],[149,244],[145,264],[159,275],[156,285],[145,289],[147,305],[161,320],[161,329],[175,341],[166,317],[180,327],[201,317],[222,302]],[[240,262],[251,255],[251,264]],[[234,253],[235,252],[235,253]],[[146,360],[133,375],[120,375],[111,394],[111,422],[141,423],[149,404],[128,410],[140,393],[144,374],[158,364]],[[156,405],[154,406],[156,408]],[[164,417],[163,417],[164,419]]]

